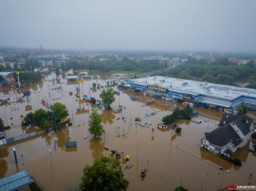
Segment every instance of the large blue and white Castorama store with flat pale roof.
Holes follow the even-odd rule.
[[[187,102],[194,107],[210,107],[219,111],[238,110],[246,106],[256,110],[256,90],[162,76],[131,79],[126,88],[154,98]]]

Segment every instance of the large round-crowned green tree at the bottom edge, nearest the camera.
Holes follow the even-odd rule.
[[[85,191],[126,190],[128,186],[121,162],[107,156],[96,159],[92,166],[86,164],[79,184],[79,188]]]

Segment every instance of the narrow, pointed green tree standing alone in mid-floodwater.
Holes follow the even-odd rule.
[[[102,122],[101,115],[99,113],[97,113],[97,111],[95,109],[93,109],[90,114],[88,130],[89,130],[90,134],[94,135],[94,137],[101,136],[104,132],[101,122]]]

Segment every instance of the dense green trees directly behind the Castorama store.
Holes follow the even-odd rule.
[[[227,59],[225,59],[227,60]],[[208,81],[217,84],[235,85],[236,81],[249,81],[249,88],[255,88],[256,65],[254,61],[247,64],[238,65],[234,62],[222,61],[206,64],[205,61],[195,61],[192,59],[186,64],[181,64],[168,72],[163,71],[163,76],[174,78],[192,79]]]

